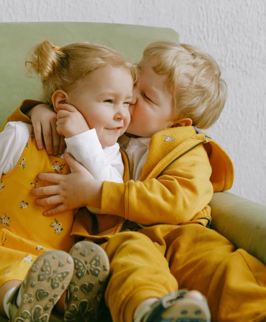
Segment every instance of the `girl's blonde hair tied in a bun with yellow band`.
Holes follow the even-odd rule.
[[[25,65],[28,72],[41,76],[42,101],[47,104],[52,103],[51,97],[56,90],[67,90],[90,72],[106,65],[128,70],[134,84],[138,80],[134,64],[114,49],[96,43],[70,43],[60,48],[45,40],[33,48]]]

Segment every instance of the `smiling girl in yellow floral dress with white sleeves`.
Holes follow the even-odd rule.
[[[68,152],[95,179],[123,182],[116,141],[130,120],[135,66],[105,46],[71,43],[59,48],[49,41],[38,44],[26,63],[41,77],[42,100],[58,112],[57,130],[66,137]],[[38,150],[32,126],[24,122],[6,124],[0,133],[0,155],[1,313],[11,321],[48,321],[69,287],[65,319],[93,321],[109,272],[108,258],[91,242],[74,245],[73,211],[61,209],[54,218],[45,217],[43,210],[49,207],[38,207],[30,193],[47,186],[38,178],[40,172],[50,172],[52,178],[52,173],[70,173],[70,167],[62,158]],[[84,180],[89,179],[86,171]]]

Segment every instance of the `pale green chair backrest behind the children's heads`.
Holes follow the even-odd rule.
[[[41,82],[25,76],[25,59],[28,51],[44,39],[58,46],[101,43],[133,61],[138,61],[146,45],[155,40],[179,42],[178,33],[169,28],[78,22],[0,23],[0,127],[23,99],[40,99]]]

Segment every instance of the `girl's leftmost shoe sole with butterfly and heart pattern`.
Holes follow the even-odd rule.
[[[64,251],[45,251],[37,257],[24,279],[14,322],[48,322],[52,308],[70,283],[73,270],[73,260]]]

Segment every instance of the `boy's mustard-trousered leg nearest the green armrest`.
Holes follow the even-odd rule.
[[[212,321],[266,321],[266,266],[222,235],[199,224],[141,230],[163,236],[166,259],[179,287],[207,297]],[[161,242],[160,239],[157,242]]]

